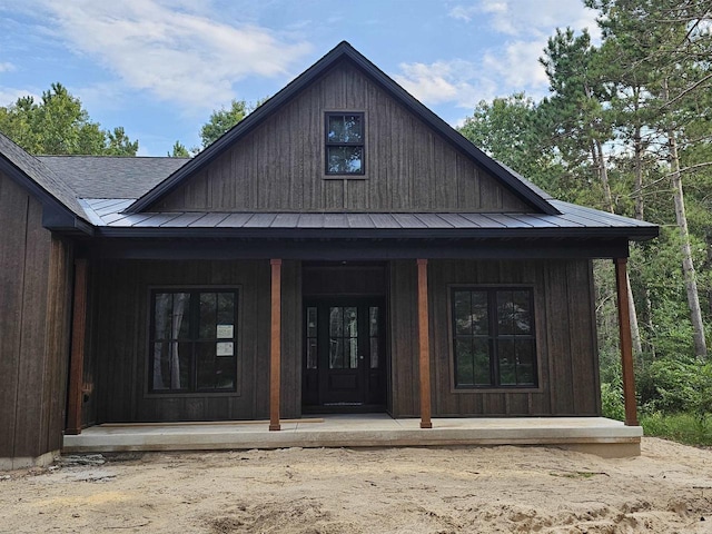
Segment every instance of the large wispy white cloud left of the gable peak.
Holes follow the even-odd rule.
[[[225,23],[202,2],[38,2],[77,53],[97,60],[132,89],[200,110],[234,98],[233,83],[240,79],[289,73],[310,50],[306,42],[283,42],[265,28]]]

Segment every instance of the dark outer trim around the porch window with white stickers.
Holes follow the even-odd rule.
[[[220,389],[220,390],[179,390],[179,389],[160,389],[154,390],[151,388],[151,364],[152,364],[152,328],[155,320],[155,300],[154,295],[157,293],[220,293],[220,291],[229,291],[235,293],[237,296],[235,314],[235,385],[231,389]],[[204,398],[204,397],[239,397],[241,396],[241,378],[243,378],[243,338],[244,328],[243,328],[243,286],[241,285],[205,285],[205,284],[178,284],[178,285],[150,285],[147,287],[146,291],[146,308],[147,316],[145,320],[145,339],[146,339],[146,352],[144,357],[144,376],[140,377],[142,382],[142,390],[144,398],[166,398],[166,397],[180,397],[180,398]],[[191,340],[192,342],[192,340]],[[195,343],[195,342],[192,342]],[[192,365],[192,364],[191,364]],[[191,368],[191,379],[195,378],[195,367]]]

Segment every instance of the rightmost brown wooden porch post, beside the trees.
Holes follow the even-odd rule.
[[[631,337],[631,316],[627,299],[626,258],[613,259],[615,264],[615,289],[619,307],[619,330],[621,338],[621,367],[623,369],[623,399],[625,403],[625,424],[637,426],[635,406],[635,376],[633,374],[633,342]]]

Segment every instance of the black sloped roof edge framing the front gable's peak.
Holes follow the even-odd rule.
[[[248,115],[244,120],[241,120],[237,126],[227,131],[217,141],[207,147],[192,160],[190,160],[180,169],[176,170],[176,172],[174,172],[165,181],[156,185],[150,191],[128,206],[126,208],[126,211],[129,214],[138,214],[149,209],[157,201],[175,190],[186,179],[198,172],[206,165],[208,165],[215,158],[220,156],[225,150],[231,147],[235,142],[253,131],[268,117],[277,112],[283,106],[294,99],[317,78],[327,72],[332,67],[344,60],[350,61],[369,79],[372,79],[386,92],[388,92],[390,97],[402,103],[411,112],[418,116],[426,125],[438,132],[448,142],[454,145],[464,154],[468,155],[478,166],[486,169],[526,204],[531,205],[537,211],[543,214],[558,214],[556,207],[548,201],[551,200],[551,196],[548,196],[542,189],[537,188],[521,176],[514,174],[511,169],[495,161],[477,147],[475,147],[458,131],[456,131],[454,128],[447,125],[447,122],[445,122],[437,115],[435,115],[423,103],[416,100],[412,95],[409,95],[405,89],[403,89],[398,83],[396,83],[392,78],[389,78],[385,72],[378,69],[374,63],[372,63],[346,41],[342,41],[339,44],[337,44],[332,51],[319,59],[309,69],[307,69],[304,73],[293,80],[289,85],[287,85],[284,89],[281,89],[274,97],[267,100],[264,105],[258,107],[254,112]]]

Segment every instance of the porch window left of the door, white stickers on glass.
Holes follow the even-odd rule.
[[[236,390],[237,296],[236,289],[152,291],[150,392]]]

